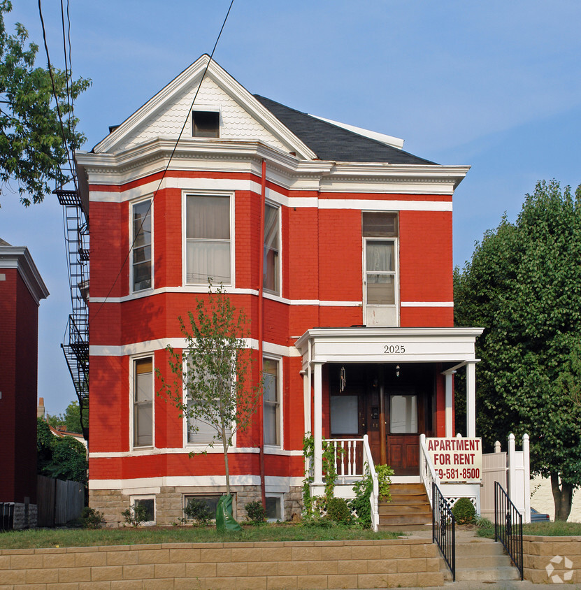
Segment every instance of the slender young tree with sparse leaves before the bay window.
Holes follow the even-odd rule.
[[[182,352],[168,345],[169,366],[174,375],[168,383],[156,370],[162,382],[159,394],[187,417],[190,432],[199,424],[210,426],[213,438],[224,451],[227,495],[230,495],[228,449],[237,431],[244,430],[257,410],[261,383],[252,385],[250,357],[245,354],[246,318],[236,312],[222,285],[208,290],[208,298],[196,300],[195,313],[188,312],[189,325],[179,317],[186,339]]]

